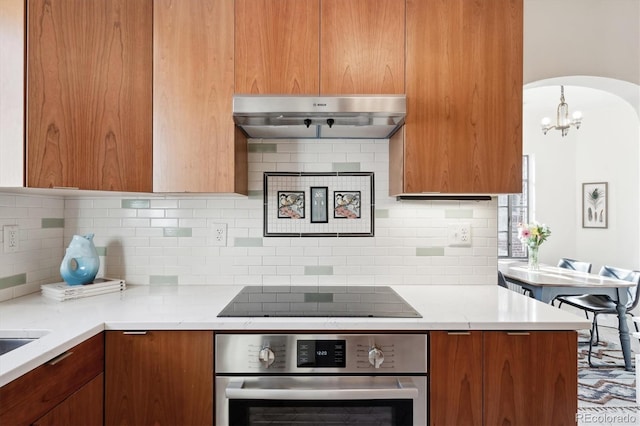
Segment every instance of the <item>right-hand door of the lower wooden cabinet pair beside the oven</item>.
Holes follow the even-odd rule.
[[[485,424],[575,424],[577,353],[574,331],[485,332]]]

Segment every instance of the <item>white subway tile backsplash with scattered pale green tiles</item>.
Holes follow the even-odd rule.
[[[59,281],[73,234],[95,233],[103,272],[150,285],[389,285],[495,282],[497,204],[491,201],[396,201],[388,191],[388,142],[250,141],[250,197],[198,194],[138,198],[46,197],[0,193],[0,225],[21,227],[20,253],[0,253],[0,300]],[[375,173],[375,236],[263,236],[263,172]],[[43,228],[64,220],[62,228]],[[447,229],[471,224],[472,246],[449,247]],[[213,224],[227,224],[227,246],[213,245]],[[165,232],[166,229],[175,232]],[[190,232],[190,234],[189,234]],[[174,235],[174,236],[164,236]],[[189,236],[190,235],[190,236]],[[419,249],[419,250],[418,250]],[[417,255],[421,253],[422,255]]]

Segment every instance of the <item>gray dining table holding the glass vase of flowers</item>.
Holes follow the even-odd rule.
[[[544,303],[551,303],[558,296],[592,294],[610,297],[616,303],[625,370],[633,371],[626,315],[629,290],[635,283],[544,264],[532,270],[526,262],[499,261],[498,269],[508,282],[526,288],[531,292],[531,297]]]

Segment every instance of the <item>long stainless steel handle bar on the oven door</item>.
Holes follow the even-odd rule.
[[[363,388],[341,386],[322,388],[245,387],[245,379],[233,379],[227,385],[228,399],[276,399],[276,400],[336,400],[336,399],[416,399],[418,388],[408,377],[396,377],[396,385],[389,387]]]

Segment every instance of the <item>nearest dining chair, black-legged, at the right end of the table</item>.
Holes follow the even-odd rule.
[[[600,269],[599,275],[603,277],[615,278],[618,280],[624,280],[634,283],[635,285],[632,287],[628,287],[628,302],[626,306],[625,313],[630,315],[633,318],[633,313],[631,312],[636,306],[638,306],[638,301],[640,301],[640,271],[633,271],[630,269],[616,268],[613,266],[603,266]],[[591,334],[589,338],[589,365],[593,367],[591,363],[591,351],[593,349],[593,341],[595,336],[595,344],[597,345],[600,341],[600,335],[598,333],[598,315],[600,314],[617,314],[616,310],[616,302],[612,300],[609,296],[601,296],[601,295],[579,295],[579,296],[560,296],[557,298],[560,301],[560,306],[563,303],[566,303],[569,306],[573,306],[574,308],[582,309],[585,311],[585,315],[587,318],[589,317],[588,312],[593,314],[593,322],[591,323]],[[638,323],[633,321],[633,325],[636,328],[636,332],[640,332],[638,329]]]

